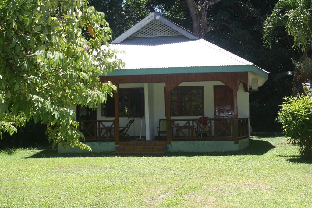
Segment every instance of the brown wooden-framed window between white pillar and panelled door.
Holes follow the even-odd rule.
[[[176,87],[175,89],[173,89],[170,94],[170,112],[171,116],[204,115],[204,87]]]

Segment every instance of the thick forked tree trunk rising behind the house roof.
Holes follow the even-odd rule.
[[[221,0],[200,0],[196,4],[194,0],[186,0],[188,9],[193,21],[193,33],[204,38],[207,32],[211,31],[212,26],[207,22],[207,9],[209,6],[220,2]]]

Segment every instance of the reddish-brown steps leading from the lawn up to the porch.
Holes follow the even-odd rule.
[[[116,146],[117,154],[163,154],[166,152],[167,142],[119,142]]]

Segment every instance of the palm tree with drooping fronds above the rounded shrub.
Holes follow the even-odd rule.
[[[272,41],[278,41],[276,29],[285,27],[289,36],[293,37],[293,47],[302,51],[303,55],[297,63],[293,88],[296,95],[304,93],[302,83],[312,78],[312,61],[308,52],[312,43],[312,2],[311,0],[280,0],[276,3],[272,14],[264,22],[263,44],[271,47]]]

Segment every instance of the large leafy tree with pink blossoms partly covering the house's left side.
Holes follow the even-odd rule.
[[[33,119],[56,146],[78,146],[71,106],[96,108],[116,87],[99,75],[124,65],[109,49],[104,13],[87,0],[0,2],[0,135]],[[104,45],[104,46],[102,46]]]

